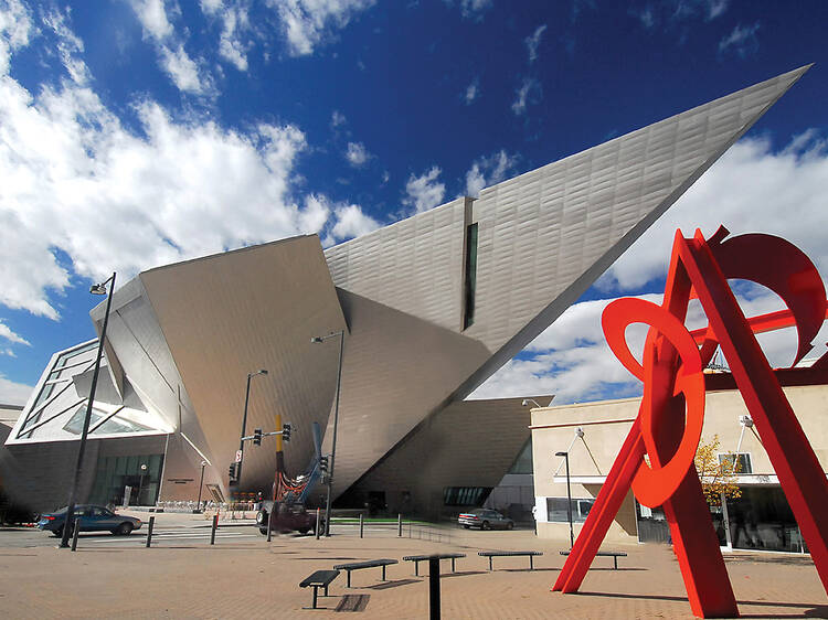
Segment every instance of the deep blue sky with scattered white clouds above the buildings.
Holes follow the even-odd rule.
[[[94,336],[88,286],[113,270],[339,243],[816,63],[476,396],[636,394],[599,313],[660,290],[677,226],[782,235],[828,272],[826,18],[824,1],[0,0],[0,403]],[[763,345],[784,363],[795,340]]]

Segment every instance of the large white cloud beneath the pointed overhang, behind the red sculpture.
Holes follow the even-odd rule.
[[[691,236],[700,227],[705,236],[724,224],[732,235],[762,232],[786,238],[805,252],[828,276],[828,151],[815,130],[795,136],[785,149],[772,152],[769,143],[746,139],[736,143],[636,242],[599,280],[609,293],[633,292],[666,276],[672,236],[681,228]],[[739,286],[736,297],[747,317],[779,310],[782,301],[757,286]],[[656,303],[660,296],[644,296]],[[552,325],[506,364],[473,395],[526,396],[558,394],[556,403],[584,402],[640,394],[640,382],[615,359],[605,344],[601,313],[609,299],[569,308]],[[688,328],[707,323],[698,301],[688,314]],[[630,349],[640,355],[644,330],[628,330]],[[797,341],[793,329],[757,336],[773,366],[793,363]],[[814,340],[808,357],[825,353],[828,324]]]

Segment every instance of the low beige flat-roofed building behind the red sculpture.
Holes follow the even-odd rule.
[[[828,373],[810,373],[810,385],[789,385],[785,395],[796,411],[822,469],[828,471]],[[803,552],[802,536],[778,478],[762,447],[741,394],[726,384],[730,374],[708,375],[702,443],[719,439],[719,458],[739,455],[735,482],[741,498],[712,506],[723,547]],[[566,467],[556,452],[569,452],[575,536],[583,525],[618,450],[638,415],[640,398],[532,409],[532,451],[538,535],[569,537]],[[659,509],[641,506],[629,492],[607,542],[658,542],[668,536]]]

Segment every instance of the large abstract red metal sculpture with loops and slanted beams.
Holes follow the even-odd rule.
[[[826,319],[825,287],[810,259],[785,239],[751,234],[725,240],[726,236],[723,227],[710,239],[700,231],[692,238],[677,231],[661,306],[619,299],[604,311],[607,343],[644,382],[644,396],[553,590],[578,589],[631,487],[641,504],[665,511],[693,613],[739,614],[693,468],[704,417],[702,368],[721,346],[828,591],[828,481],[754,335],[795,325],[795,365]],[[729,278],[769,288],[788,310],[746,319]],[[692,298],[701,302],[709,324],[690,333],[684,319]],[[650,325],[640,364],[625,339],[627,325],[639,322]],[[818,362],[826,363],[828,354]]]

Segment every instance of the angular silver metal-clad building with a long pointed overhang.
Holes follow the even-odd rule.
[[[258,368],[268,374],[253,377],[247,429],[290,421],[286,468],[304,471],[314,423],[332,448],[339,352],[310,340],[343,330],[338,504],[439,516],[457,496],[481,501],[529,418],[520,398],[465,398],[805,71],[329,249],[309,235],[138,275],[114,293],[81,496],[109,501],[137,484],[140,503],[194,499],[203,462],[205,484],[227,498],[245,380]],[[103,304],[92,319],[99,331]],[[93,349],[53,356],[0,453],[4,484],[35,507],[65,502]],[[245,448],[238,489],[269,493],[275,467],[266,442]]]

